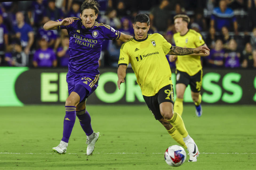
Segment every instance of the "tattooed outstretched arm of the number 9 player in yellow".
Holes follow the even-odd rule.
[[[173,46],[173,48],[169,51],[168,54],[177,55],[177,56],[184,56],[184,55],[189,55],[189,54],[193,54],[193,53],[208,54],[207,50],[210,51],[210,49],[207,48],[206,46],[199,46],[197,48],[182,48],[182,47],[178,47],[178,46]]]

